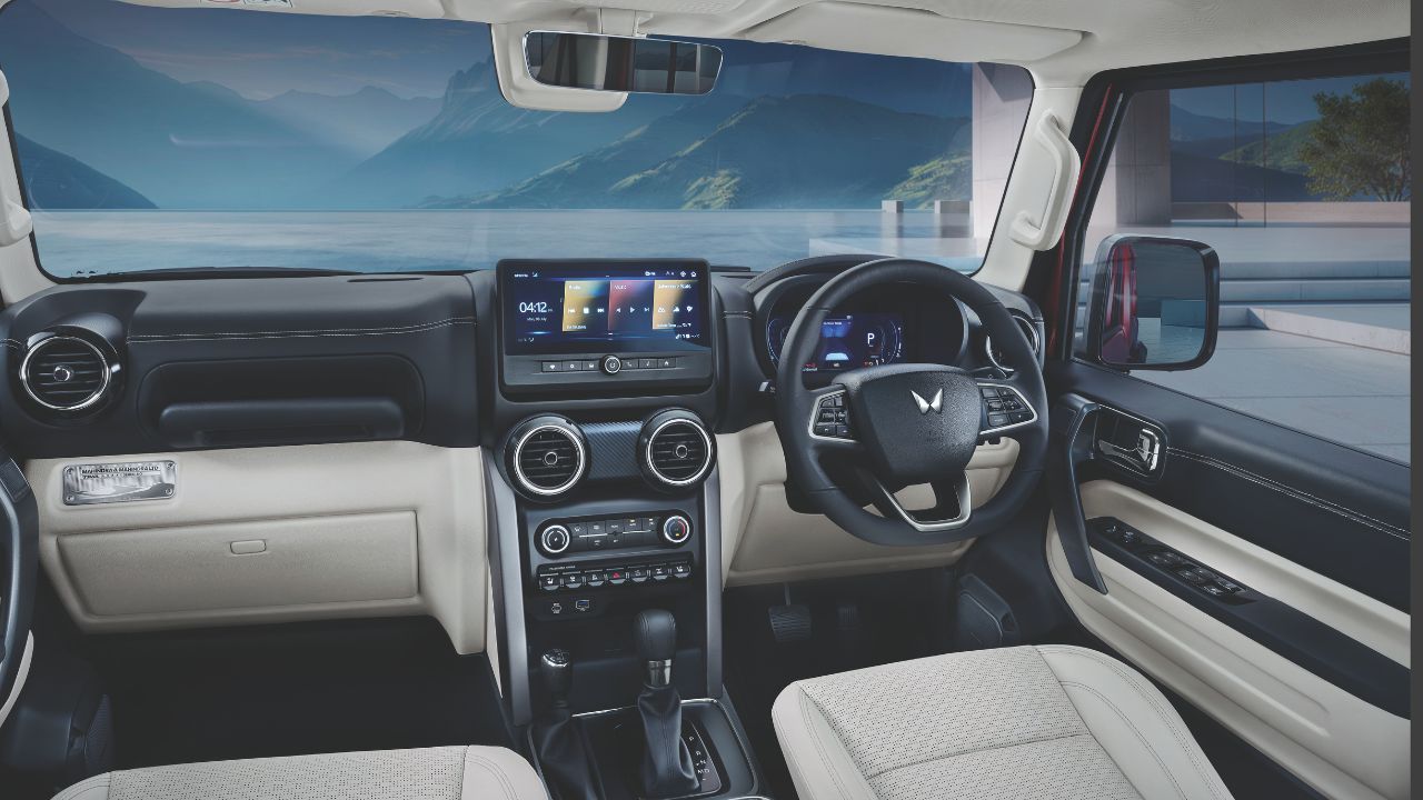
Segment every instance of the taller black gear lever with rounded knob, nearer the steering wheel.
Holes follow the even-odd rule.
[[[638,614],[638,656],[646,675],[638,696],[638,716],[646,749],[638,772],[643,797],[684,797],[699,787],[692,752],[682,740],[682,696],[672,685],[672,656],[677,651],[677,621],[662,609]]]

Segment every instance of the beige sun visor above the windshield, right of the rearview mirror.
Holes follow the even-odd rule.
[[[1081,41],[1081,31],[1076,30],[958,20],[861,3],[811,3],[741,36],[827,50],[993,63],[1036,61]]]

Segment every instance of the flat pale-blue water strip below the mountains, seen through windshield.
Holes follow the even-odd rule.
[[[704,258],[768,269],[824,252],[980,262],[932,212],[878,211],[48,211],[40,263],[58,278],[192,266],[361,272],[487,269],[501,258]],[[945,235],[948,233],[948,235]]]

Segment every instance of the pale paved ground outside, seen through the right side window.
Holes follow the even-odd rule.
[[[1286,427],[1409,461],[1409,357],[1276,330],[1221,330],[1197,370],[1134,373]]]

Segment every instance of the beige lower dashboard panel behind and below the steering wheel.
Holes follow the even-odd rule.
[[[969,463],[975,505],[1007,480],[1017,443],[982,446]],[[773,423],[717,436],[721,475],[721,571],[727,586],[921,569],[956,562],[972,542],[882,547],[858,540],[827,517],[800,514],[785,500],[785,453]],[[899,494],[908,508],[932,501],[928,487]]]

